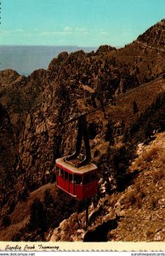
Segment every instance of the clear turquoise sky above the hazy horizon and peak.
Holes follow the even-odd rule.
[[[165,18],[165,0],[0,2],[0,45],[122,47]]]

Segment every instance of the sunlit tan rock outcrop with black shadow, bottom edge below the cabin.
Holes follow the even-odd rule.
[[[100,199],[97,206],[88,209],[89,226],[86,226],[86,212],[75,212],[63,220],[54,230],[50,241],[107,241],[110,230],[117,228],[117,218],[107,199]]]

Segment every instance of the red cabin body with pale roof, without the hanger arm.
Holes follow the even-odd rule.
[[[77,200],[84,200],[97,194],[98,168],[93,163],[77,167],[77,160],[56,160],[56,186]]]

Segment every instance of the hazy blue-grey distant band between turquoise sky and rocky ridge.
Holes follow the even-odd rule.
[[[0,45],[0,70],[14,69],[20,75],[28,76],[39,68],[48,68],[49,62],[62,51],[68,53],[83,49],[85,52],[96,47],[78,46],[17,46]]]

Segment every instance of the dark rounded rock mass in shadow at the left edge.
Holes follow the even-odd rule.
[[[1,207],[7,205],[10,208],[18,198],[15,186],[21,172],[20,158],[16,150],[17,145],[14,142],[14,131],[9,114],[1,104],[0,116],[0,205]]]

